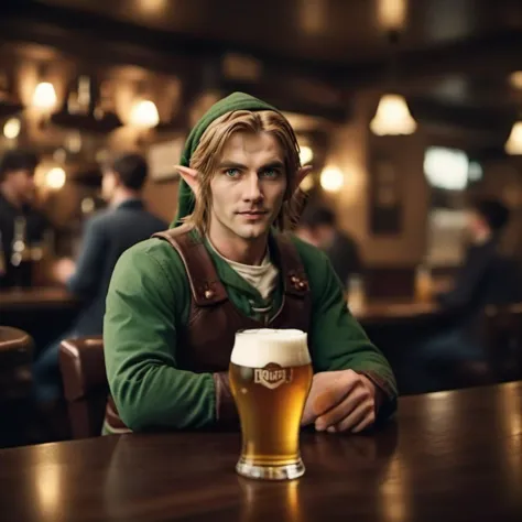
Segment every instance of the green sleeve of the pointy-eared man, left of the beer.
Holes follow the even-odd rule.
[[[137,246],[118,261],[107,295],[107,374],[118,412],[133,431],[204,427],[220,416],[216,390],[226,376],[176,368],[180,311],[189,294],[183,270],[176,280],[175,269],[167,275]]]

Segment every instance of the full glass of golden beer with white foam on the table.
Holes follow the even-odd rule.
[[[229,376],[242,435],[237,472],[269,480],[301,477],[301,417],[313,376],[306,334],[238,331]]]

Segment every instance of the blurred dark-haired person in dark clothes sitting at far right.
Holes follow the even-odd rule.
[[[510,210],[496,199],[478,199],[470,206],[464,262],[452,290],[435,296],[446,322],[436,336],[412,349],[414,391],[439,390],[460,372],[487,372],[482,312],[487,305],[521,298],[518,265],[499,253],[509,218]]]

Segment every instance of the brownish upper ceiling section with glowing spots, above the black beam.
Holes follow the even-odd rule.
[[[387,48],[378,0],[44,0],[241,51],[350,65]],[[393,1],[392,1],[393,3]],[[407,2],[406,2],[407,3]],[[404,50],[522,30],[522,2],[410,0]]]

